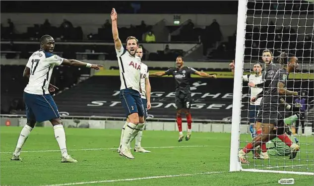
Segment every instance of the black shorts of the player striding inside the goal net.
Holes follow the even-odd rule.
[[[278,111],[278,104],[264,103],[260,105],[260,110],[257,113],[257,122],[277,125],[278,120],[283,120],[281,112]]]

